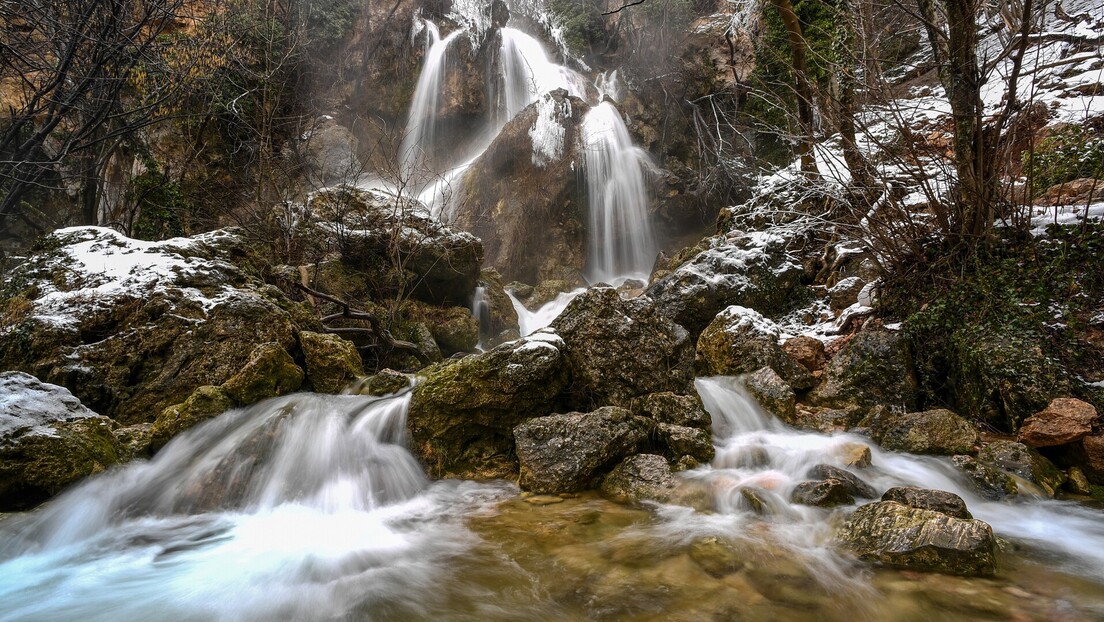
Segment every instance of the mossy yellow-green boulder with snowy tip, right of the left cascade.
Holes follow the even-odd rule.
[[[423,370],[408,415],[422,464],[437,476],[514,475],[513,428],[556,405],[567,386],[563,348],[543,330]]]

